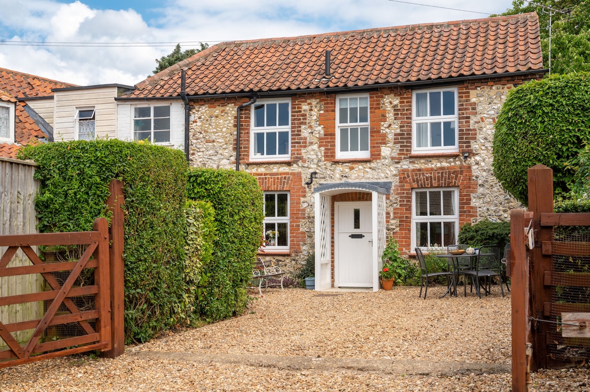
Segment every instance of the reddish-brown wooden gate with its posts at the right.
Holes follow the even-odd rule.
[[[554,213],[552,170],[528,175],[529,212],[510,213],[513,391],[590,361],[590,213]]]

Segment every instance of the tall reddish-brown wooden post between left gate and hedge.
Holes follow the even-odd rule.
[[[111,302],[111,349],[103,351],[102,357],[114,358],[123,354],[125,350],[124,330],[124,265],[123,243],[124,232],[124,197],[123,182],[112,180],[109,185],[110,196],[107,199],[107,209],[112,212],[110,225],[110,302]]]

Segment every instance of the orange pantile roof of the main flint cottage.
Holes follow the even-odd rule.
[[[326,74],[326,51],[330,69]],[[126,98],[266,93],[440,81],[543,69],[533,13],[292,38],[222,42],[136,85]]]

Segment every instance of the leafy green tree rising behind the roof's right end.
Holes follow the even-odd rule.
[[[512,8],[502,15],[533,11],[539,15],[546,67],[549,67],[551,25],[551,73],[590,71],[590,0],[539,0],[526,4],[524,0],[514,0]]]

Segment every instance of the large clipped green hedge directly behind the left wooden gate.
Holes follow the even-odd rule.
[[[90,230],[94,218],[104,216],[110,180],[124,181],[125,340],[147,341],[181,322],[187,173],[182,151],[96,140],[30,146],[21,157],[39,165],[42,232]]]

